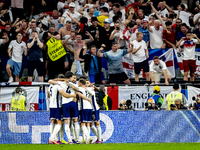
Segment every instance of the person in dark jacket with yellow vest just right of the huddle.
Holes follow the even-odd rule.
[[[112,110],[112,99],[105,93],[105,86],[100,85],[98,92],[98,101],[100,110]]]

